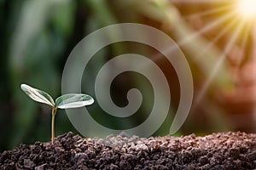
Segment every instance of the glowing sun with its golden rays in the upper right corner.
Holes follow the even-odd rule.
[[[212,33],[212,35],[214,36],[211,37],[211,40],[209,44],[205,46],[205,49],[201,50],[201,54],[196,54],[196,57],[194,58],[196,59],[196,61],[202,59],[203,56],[206,56],[205,54],[208,53],[209,49],[212,46],[218,44],[218,42],[221,44],[222,42],[226,41],[224,43],[224,47],[220,48],[222,49],[222,54],[219,55],[219,59],[217,60],[217,62],[214,63],[211,68],[209,68],[210,71],[207,80],[203,82],[201,90],[195,97],[195,102],[192,108],[192,110],[194,110],[201,103],[201,100],[204,99],[204,97],[206,96],[207,91],[209,90],[212,82],[214,81],[214,78],[218,76],[218,71],[221,69],[223,63],[227,61],[227,57],[229,56],[232,48],[239,46],[241,47],[241,51],[246,51],[248,49],[247,45],[249,45],[250,47],[249,43],[251,43],[251,40],[249,40],[248,38],[251,37],[253,31],[255,34],[255,37],[253,37],[253,42],[256,43],[256,0],[172,1],[182,1],[183,4],[188,3],[188,6],[191,4],[191,2],[202,3],[202,5],[205,5],[206,7],[206,9],[198,10],[195,13],[188,12],[188,14],[185,15],[186,19],[188,20],[195,20],[197,16],[199,20],[202,20],[202,23],[205,23],[205,25],[201,25],[200,29],[196,30],[189,37],[185,37],[180,40],[178,42],[179,45],[183,45],[186,42],[191,42],[192,44],[195,38],[201,35],[207,35],[207,32],[209,32],[209,35],[211,35],[211,33],[214,32],[212,30],[218,30]],[[209,3],[208,9],[206,3]],[[207,22],[205,20],[207,20]],[[256,58],[256,49],[255,52],[248,52],[248,58],[251,57],[251,54],[249,53],[253,53]],[[244,54],[243,56],[245,55],[246,54]],[[241,65],[245,61],[243,59],[237,60],[236,66],[234,66],[234,68],[236,67],[235,69],[241,68]]]

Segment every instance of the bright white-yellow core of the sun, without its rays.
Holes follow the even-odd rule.
[[[238,0],[236,3],[238,14],[245,20],[256,20],[256,1]]]

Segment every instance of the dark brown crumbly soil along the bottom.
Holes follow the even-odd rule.
[[[141,139],[120,133],[84,139],[66,133],[53,144],[20,144],[3,151],[0,169],[256,169],[256,134]]]

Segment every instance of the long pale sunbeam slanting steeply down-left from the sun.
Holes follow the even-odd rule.
[[[212,79],[216,76],[216,74],[218,73],[218,68],[220,67],[220,65],[223,64],[224,59],[226,59],[226,54],[229,52],[230,48],[234,45],[234,43],[236,42],[237,37],[239,36],[239,33],[241,32],[242,28],[243,28],[244,24],[241,24],[235,31],[234,35],[231,37],[230,42],[228,42],[227,46],[224,48],[224,53],[220,56],[220,59],[218,60],[218,63],[216,65],[214,65],[213,70],[211,75],[207,78],[207,81],[204,83],[204,85],[201,88],[201,91],[199,92],[198,96],[195,99],[195,104],[193,106],[194,110],[196,108],[196,106],[200,103],[201,99],[204,97],[204,95],[207,92],[207,89],[209,88]],[[192,111],[191,110],[191,111]]]

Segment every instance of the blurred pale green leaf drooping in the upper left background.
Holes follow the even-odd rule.
[[[24,69],[25,61],[27,58],[27,50],[32,45],[32,41],[35,37],[40,35],[41,31],[44,31],[45,27],[49,23],[49,20],[60,19],[65,20],[65,16],[72,16],[72,10],[62,10],[67,14],[61,16],[60,13],[56,13],[56,8],[66,7],[72,4],[73,1],[69,0],[45,0],[45,1],[26,1],[23,3],[19,21],[17,23],[14,36],[10,46],[11,64],[15,68]],[[72,6],[72,5],[71,5]],[[59,9],[60,12],[61,9]],[[66,20],[68,24],[72,25],[70,20]],[[64,26],[63,21],[59,23]],[[57,26],[59,25],[57,24]],[[63,28],[66,29],[66,28]],[[68,30],[68,28],[67,28]],[[63,30],[64,31],[64,30]]]

